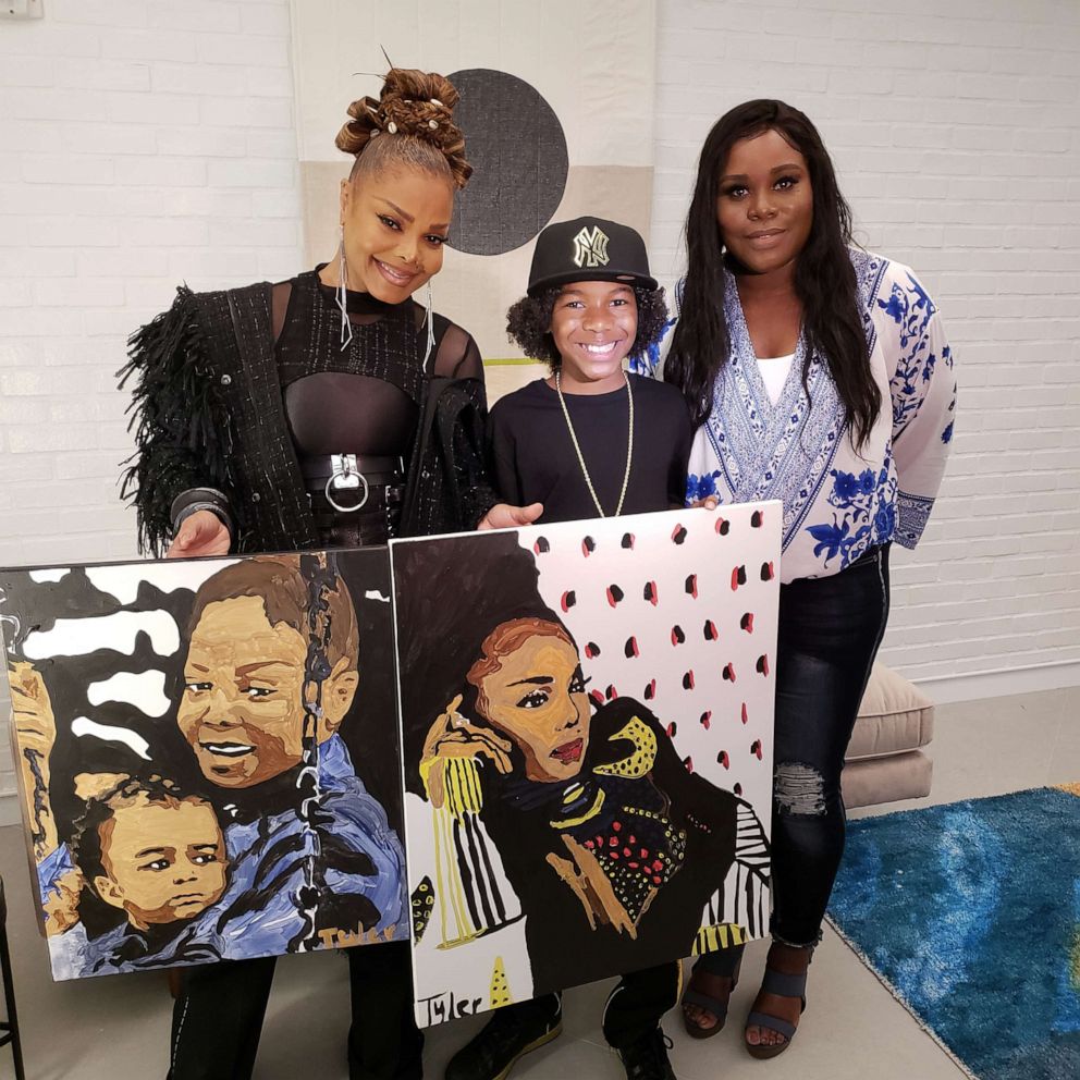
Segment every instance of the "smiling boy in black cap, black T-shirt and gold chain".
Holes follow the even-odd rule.
[[[692,435],[683,395],[623,361],[659,342],[663,290],[635,230],[601,218],[549,225],[510,336],[551,375],[491,410],[492,476],[511,503],[543,503],[541,521],[682,506]],[[677,961],[630,972],[612,992],[603,1032],[633,1080],[675,1080],[660,1018],[678,1001]],[[505,1080],[562,1031],[559,994],[499,1009],[451,1059],[446,1080]]]

